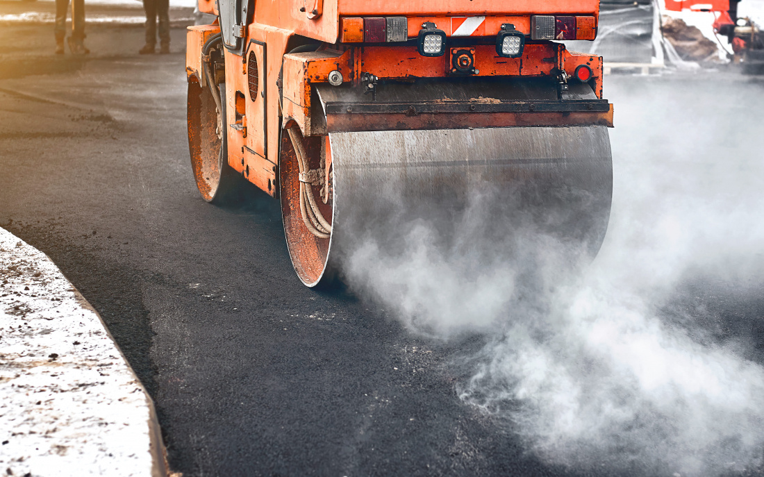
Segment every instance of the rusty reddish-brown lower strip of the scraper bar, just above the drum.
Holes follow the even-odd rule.
[[[498,112],[498,113],[377,113],[327,114],[330,133],[397,131],[406,129],[468,129],[483,127],[613,127],[613,105],[607,111]]]

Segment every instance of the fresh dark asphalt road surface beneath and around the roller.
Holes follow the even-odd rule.
[[[186,145],[183,30],[173,30],[178,50],[167,56],[134,54],[141,38],[140,28],[93,28],[92,58],[31,76],[6,72],[0,226],[47,253],[102,314],[157,402],[174,470],[578,473],[527,453],[506,426],[459,400],[463,376],[448,363],[481,346],[480,337],[417,337],[370,302],[305,288],[290,264],[278,201],[254,187],[238,206],[202,201]],[[669,112],[631,121],[668,128],[681,114],[671,111],[729,91],[729,77],[607,81],[617,114],[639,104],[626,92],[677,91]],[[745,94],[759,95],[761,105],[761,82],[732,81],[735,107]],[[649,140],[631,146],[650,153]],[[735,147],[720,141],[727,153]],[[761,298],[687,286],[678,303],[715,304],[748,324],[762,317]],[[745,333],[760,337],[761,327]]]

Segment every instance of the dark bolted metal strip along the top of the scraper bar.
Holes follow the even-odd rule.
[[[537,100],[537,101],[455,101],[455,102],[329,102],[327,114],[396,114],[406,113],[519,113],[533,112],[607,112],[610,103],[607,99],[587,99],[572,101]]]

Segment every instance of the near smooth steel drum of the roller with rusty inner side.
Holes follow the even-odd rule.
[[[280,168],[287,245],[308,286],[335,276],[342,255],[366,237],[403,247],[403,229],[416,221],[446,244],[465,240],[473,230],[465,221],[485,221],[474,229],[484,234],[533,230],[591,257],[604,240],[613,182],[607,127],[332,133],[329,144],[329,239],[300,230],[290,198],[296,171]]]

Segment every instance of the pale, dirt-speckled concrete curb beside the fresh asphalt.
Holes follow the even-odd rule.
[[[0,473],[167,475],[154,402],[99,314],[0,228]]]

